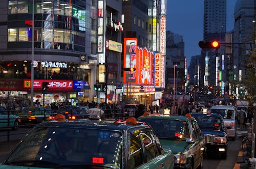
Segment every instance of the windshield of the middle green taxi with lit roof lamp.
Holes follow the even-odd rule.
[[[183,139],[189,138],[187,122],[169,119],[140,119],[141,122],[150,124],[158,138]]]

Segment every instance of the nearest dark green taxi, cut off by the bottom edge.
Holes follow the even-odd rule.
[[[53,120],[35,126],[0,168],[174,168],[172,151],[164,151],[151,126],[96,119]]]

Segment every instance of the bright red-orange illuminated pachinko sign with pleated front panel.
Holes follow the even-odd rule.
[[[125,68],[136,71],[124,71],[123,82],[131,85],[153,85],[153,52],[137,46],[137,38],[124,38]]]

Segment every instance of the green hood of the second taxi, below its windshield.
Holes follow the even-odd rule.
[[[179,152],[184,152],[187,147],[189,146],[188,143],[186,143],[185,140],[170,140],[168,138],[159,138],[159,141],[163,147],[164,150],[172,150],[174,154],[179,153]]]

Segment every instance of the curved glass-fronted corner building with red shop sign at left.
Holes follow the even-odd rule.
[[[1,96],[12,91],[10,98],[41,101],[41,85],[47,81],[46,104],[92,101],[96,3],[18,0],[0,4]]]

